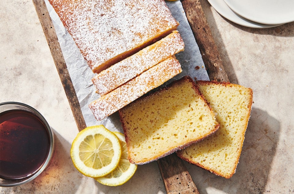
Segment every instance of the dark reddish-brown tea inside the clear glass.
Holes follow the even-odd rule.
[[[0,178],[31,176],[45,162],[50,138],[44,123],[26,110],[0,113]]]

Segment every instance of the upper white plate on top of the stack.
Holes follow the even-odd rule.
[[[277,25],[294,21],[294,0],[224,0],[240,16]]]

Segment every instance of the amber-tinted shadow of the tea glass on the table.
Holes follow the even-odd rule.
[[[71,144],[51,128],[54,133],[55,151],[47,168],[27,184],[12,187],[7,193],[75,193],[83,175],[70,158]]]

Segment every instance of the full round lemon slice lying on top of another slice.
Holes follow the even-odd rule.
[[[103,125],[80,131],[70,149],[74,166],[89,177],[109,174],[118,166],[121,154],[119,139]]]

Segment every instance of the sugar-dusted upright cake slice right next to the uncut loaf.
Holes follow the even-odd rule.
[[[105,95],[154,65],[184,50],[184,42],[178,31],[134,55],[114,64],[92,78],[97,92]]]

